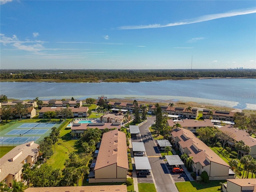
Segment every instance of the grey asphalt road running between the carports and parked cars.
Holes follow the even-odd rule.
[[[157,192],[178,192],[172,176],[166,168],[164,160],[162,160],[159,154],[156,142],[148,130],[148,127],[154,124],[154,120],[155,118],[148,117],[148,121],[142,124],[139,128],[141,139],[144,142],[144,146],[146,148],[146,155],[148,156],[148,160],[152,168],[152,177],[155,181],[156,190]]]

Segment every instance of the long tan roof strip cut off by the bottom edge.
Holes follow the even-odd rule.
[[[30,187],[25,192],[127,192],[126,185]]]

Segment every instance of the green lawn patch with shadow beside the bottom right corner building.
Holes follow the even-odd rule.
[[[226,180],[210,181],[209,183],[186,181],[175,184],[179,192],[220,192],[220,182],[226,182]]]

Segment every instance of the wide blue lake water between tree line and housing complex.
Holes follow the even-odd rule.
[[[106,96],[150,102],[199,102],[256,110],[256,79],[167,80],[139,83],[0,82],[8,98],[40,100]]]

